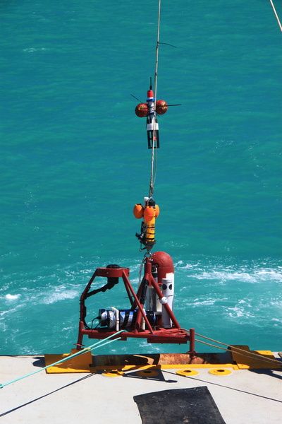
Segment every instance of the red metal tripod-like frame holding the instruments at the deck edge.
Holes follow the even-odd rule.
[[[103,339],[108,336],[114,336],[116,331],[112,331],[104,328],[89,329],[85,326],[85,300],[87,298],[87,293],[89,293],[91,285],[94,281],[94,278],[107,277],[107,278],[122,278],[125,285],[125,290],[128,293],[128,298],[131,303],[132,309],[137,310],[137,317],[135,324],[130,329],[130,331],[124,331],[123,333],[118,334],[116,337],[120,337],[121,340],[126,341],[128,337],[135,338],[147,338],[148,343],[187,343],[190,341],[190,351],[189,353],[195,353],[195,330],[190,329],[189,333],[184,329],[180,328],[175,315],[173,314],[169,305],[164,304],[164,308],[168,313],[168,316],[173,323],[171,328],[164,328],[162,326],[156,326],[152,328],[152,325],[149,323],[149,320],[145,314],[144,307],[140,302],[141,290],[138,290],[137,294],[133,290],[133,286],[129,281],[129,269],[128,268],[97,268],[92,277],[90,278],[89,283],[85,287],[81,298],[80,298],[80,322],[78,329],[78,343],[77,348],[80,350],[82,348],[82,339],[83,336],[88,336],[89,338],[99,338]],[[161,299],[163,294],[159,288],[159,284],[155,281],[152,276],[152,259],[146,258],[145,260],[145,274],[143,281],[146,281],[150,286],[154,288],[157,293],[157,296]],[[140,285],[141,287],[141,285]],[[142,329],[142,319],[145,320],[145,329]],[[113,337],[115,338],[115,337]]]

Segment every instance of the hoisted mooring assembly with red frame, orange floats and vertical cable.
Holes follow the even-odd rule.
[[[159,28],[160,28],[161,0],[159,0],[158,30],[156,45],[156,64],[154,73],[154,90],[152,80],[147,91],[147,102],[139,103],[135,107],[137,117],[147,119],[147,145],[151,151],[151,172],[149,178],[149,193],[141,204],[135,204],[133,213],[135,218],[142,220],[141,229],[136,233],[140,241],[140,250],[145,251],[140,268],[144,275],[140,278],[137,292],[130,283],[130,270],[109,264],[104,268],[97,268],[80,298],[80,322],[78,329],[78,350],[82,349],[84,336],[104,339],[109,336],[121,338],[125,341],[129,337],[147,338],[149,343],[187,343],[190,341],[190,355],[195,353],[195,330],[181,329],[173,313],[174,298],[174,266],[173,260],[166,252],[154,252],[156,243],[155,226],[159,216],[159,206],[153,198],[154,181],[156,177],[155,150],[159,148],[158,115],[166,113],[168,105],[164,100],[157,99],[158,57],[159,57]],[[104,285],[92,288],[95,278],[104,278]],[[87,314],[87,299],[99,293],[115,290],[116,285],[123,283],[128,297],[128,305],[122,309],[116,306],[103,307],[97,303],[97,317],[91,312],[89,320]],[[104,297],[103,297],[104,299]],[[109,304],[108,304],[109,305]],[[110,304],[111,305],[111,304]],[[91,324],[90,324],[91,322]],[[95,322],[95,324],[93,324]],[[121,332],[121,330],[123,330]]]

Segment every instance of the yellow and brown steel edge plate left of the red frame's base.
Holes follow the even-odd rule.
[[[66,358],[73,353],[78,352],[72,349],[71,353],[63,353],[62,355],[45,355],[45,365],[50,365],[60,359]],[[55,365],[54,367],[47,368],[48,374],[61,374],[62,372],[90,372],[90,365],[92,364],[91,352],[86,352],[83,355],[76,356],[65,363]]]

